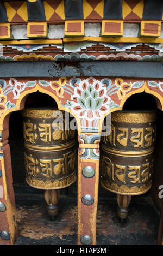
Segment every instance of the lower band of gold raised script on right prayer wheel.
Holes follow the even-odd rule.
[[[103,156],[103,175],[110,180],[116,179],[122,183],[145,183],[151,178],[153,163],[144,163],[139,166],[118,165],[110,162],[108,157]]]

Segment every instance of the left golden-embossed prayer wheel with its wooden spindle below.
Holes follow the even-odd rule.
[[[74,130],[65,112],[52,108],[22,110],[24,162],[29,186],[44,189],[48,212],[58,214],[59,190],[76,181]]]

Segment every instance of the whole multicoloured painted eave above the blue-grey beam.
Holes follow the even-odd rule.
[[[1,1],[0,60],[162,61],[162,8],[151,0]]]

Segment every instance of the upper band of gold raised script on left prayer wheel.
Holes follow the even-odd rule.
[[[31,144],[35,144],[37,139],[39,138],[41,141],[46,143],[51,143],[53,140],[67,140],[69,138],[73,138],[74,131],[73,130],[60,130],[56,129],[60,126],[57,124],[55,127],[51,123],[30,123],[23,122],[23,134],[26,142],[30,142]],[[55,130],[54,130],[55,128]]]

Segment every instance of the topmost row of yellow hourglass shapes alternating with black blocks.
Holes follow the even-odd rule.
[[[42,1],[42,2],[41,2]],[[136,21],[141,20],[163,20],[162,8],[163,2],[157,0],[80,0],[80,13],[82,18],[77,16],[75,3],[73,0],[41,0],[41,10],[45,13],[45,19],[38,16],[37,20],[29,19],[30,12],[33,11],[32,4],[39,3],[39,1],[0,1],[0,8],[3,15],[0,16],[1,22],[12,22],[12,23],[25,23],[27,21],[47,21],[49,23],[57,23],[59,21],[73,20],[73,19],[84,19],[85,21],[98,22],[102,19],[118,19],[124,21]],[[67,6],[65,3],[67,2]],[[148,3],[151,4],[148,4]],[[33,5],[35,6],[35,5]],[[39,8],[39,5],[38,5]],[[66,9],[65,9],[66,8]],[[37,9],[35,9],[37,13]],[[73,10],[73,11],[72,11]],[[4,15],[5,14],[5,15]],[[157,15],[158,14],[158,15]],[[32,15],[32,14],[31,14]],[[66,19],[65,19],[66,16]],[[73,17],[74,16],[74,17]],[[77,16],[77,17],[76,17]]]

